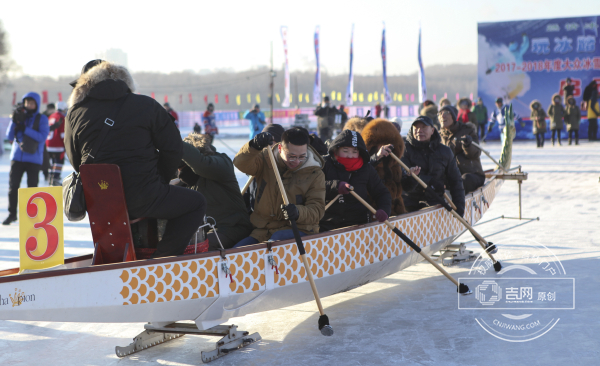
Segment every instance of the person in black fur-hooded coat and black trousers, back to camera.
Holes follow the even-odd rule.
[[[199,192],[169,185],[183,156],[181,135],[159,103],[133,91],[126,68],[102,60],[85,65],[69,98],[65,150],[79,171],[121,102],[93,163],[119,166],[131,218],[168,220],[154,257],[180,255],[203,221],[206,201]]]

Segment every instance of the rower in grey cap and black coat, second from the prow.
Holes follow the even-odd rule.
[[[437,197],[432,197],[414,179],[403,179],[406,209],[410,212],[437,205],[447,187],[456,212],[462,216],[465,211],[465,190],[460,170],[452,149],[442,144],[440,134],[429,117],[417,117],[406,135],[405,146],[401,160],[408,166],[420,167],[419,178],[437,193]]]

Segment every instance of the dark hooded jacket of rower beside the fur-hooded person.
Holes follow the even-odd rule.
[[[183,161],[179,178],[206,197],[206,216],[215,219],[217,231],[240,229],[239,240],[250,235],[250,216],[229,156],[214,151],[206,135],[191,134],[183,143]]]

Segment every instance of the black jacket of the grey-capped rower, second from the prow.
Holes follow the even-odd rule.
[[[402,161],[409,167],[421,167],[419,178],[427,185],[431,186],[433,180],[443,182],[446,189],[450,190],[452,202],[457,208],[456,212],[461,216],[463,215],[465,211],[465,190],[460,170],[452,149],[442,144],[442,139],[437,131],[433,131],[429,142],[421,142],[414,137],[411,127],[406,136],[406,151]],[[418,206],[421,201],[425,201],[429,205],[439,203],[436,199],[426,195],[423,187],[417,185],[414,179],[404,179],[403,188],[406,207]]]

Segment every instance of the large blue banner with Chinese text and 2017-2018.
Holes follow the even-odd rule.
[[[600,16],[479,23],[478,90],[488,111],[497,98],[512,103],[517,139],[533,139],[529,105],[539,100],[548,110],[552,95],[563,95],[571,78],[573,96],[580,106],[583,90],[600,72]],[[563,99],[564,103],[564,99]],[[579,137],[587,138],[587,111],[581,111]],[[550,129],[546,136],[550,137]],[[498,135],[494,128],[489,137]],[[563,137],[566,131],[563,129]]]

